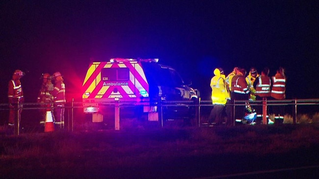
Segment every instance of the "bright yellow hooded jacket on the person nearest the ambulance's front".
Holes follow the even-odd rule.
[[[225,105],[229,97],[225,85],[225,75],[220,74],[218,68],[214,70],[214,75],[211,79],[212,102],[217,105]]]

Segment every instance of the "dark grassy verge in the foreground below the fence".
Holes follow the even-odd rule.
[[[225,162],[236,165],[243,162],[237,157],[250,156],[256,163],[270,155],[277,156],[274,157],[277,160],[288,154],[294,156],[295,151],[315,151],[317,154],[318,148],[319,127],[304,123],[2,134],[0,178],[205,177],[222,172],[208,168],[221,167]],[[285,158],[285,161],[314,162],[313,156],[300,157],[297,161],[293,157]],[[281,164],[271,167],[277,165]],[[177,172],[180,167],[186,171]],[[232,172],[236,170],[239,169],[235,167]]]

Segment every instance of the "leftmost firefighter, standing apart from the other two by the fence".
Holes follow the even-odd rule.
[[[20,79],[25,73],[20,69],[13,72],[12,80],[8,85],[9,121],[8,126],[14,126],[14,122],[21,120],[22,103],[24,102],[23,90]],[[18,111],[17,111],[18,110]]]

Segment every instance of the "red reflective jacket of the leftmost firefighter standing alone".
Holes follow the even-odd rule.
[[[20,80],[10,80],[8,85],[9,103],[23,102],[23,90]]]

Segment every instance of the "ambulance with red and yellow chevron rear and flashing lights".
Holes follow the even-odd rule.
[[[141,112],[149,121],[159,120],[159,108],[165,114],[190,115],[187,104],[185,108],[160,106],[163,101],[196,101],[199,91],[185,84],[174,68],[158,61],[115,58],[92,62],[82,85],[84,113],[92,113],[93,122],[103,122],[104,116],[111,113],[106,109],[116,105],[121,107],[120,113]],[[122,110],[125,107],[129,110]]]

